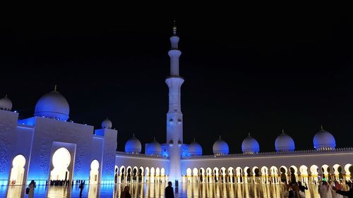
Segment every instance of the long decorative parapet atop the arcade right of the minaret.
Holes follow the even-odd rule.
[[[228,155],[203,155],[203,156],[186,156],[183,159],[198,159],[198,158],[234,158],[234,157],[257,157],[257,156],[290,156],[290,155],[301,155],[301,154],[326,154],[326,153],[345,153],[353,152],[353,148],[337,148],[332,150],[299,150],[299,151],[273,151],[263,152],[257,154],[228,154]]]

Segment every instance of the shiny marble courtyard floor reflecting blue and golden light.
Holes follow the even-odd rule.
[[[132,197],[164,197],[164,183],[138,183],[128,184]],[[124,184],[118,185],[85,185],[83,196],[95,197],[120,197]],[[179,188],[174,187],[175,197],[282,197],[284,185],[261,185],[261,184],[198,184],[182,183]],[[78,186],[37,186],[35,188],[35,198],[41,197],[79,197]],[[25,186],[0,186],[0,197],[18,198],[28,197],[25,195]],[[317,186],[309,185],[306,190],[306,197],[320,197]]]

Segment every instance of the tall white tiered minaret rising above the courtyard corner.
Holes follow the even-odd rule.
[[[167,144],[169,143],[169,180],[181,181],[181,144],[183,142],[183,114],[181,113],[180,88],[184,79],[179,76],[179,37],[177,26],[173,26],[170,37],[172,49],[168,51],[170,57],[170,76],[165,80],[169,87],[169,111],[167,113]]]

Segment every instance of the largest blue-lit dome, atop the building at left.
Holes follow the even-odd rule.
[[[35,105],[35,116],[68,120],[69,112],[67,100],[59,92],[56,92],[56,89],[44,94]]]

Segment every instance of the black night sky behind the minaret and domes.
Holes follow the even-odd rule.
[[[211,154],[221,135],[239,153],[251,132],[261,151],[274,151],[284,129],[296,149],[312,149],[323,125],[337,147],[353,146],[352,11],[167,11],[8,21],[0,27],[0,95],[28,118],[57,85],[69,120],[95,128],[112,120],[120,151],[133,132],[143,144],[165,142],[176,17],[184,143],[195,137]]]

